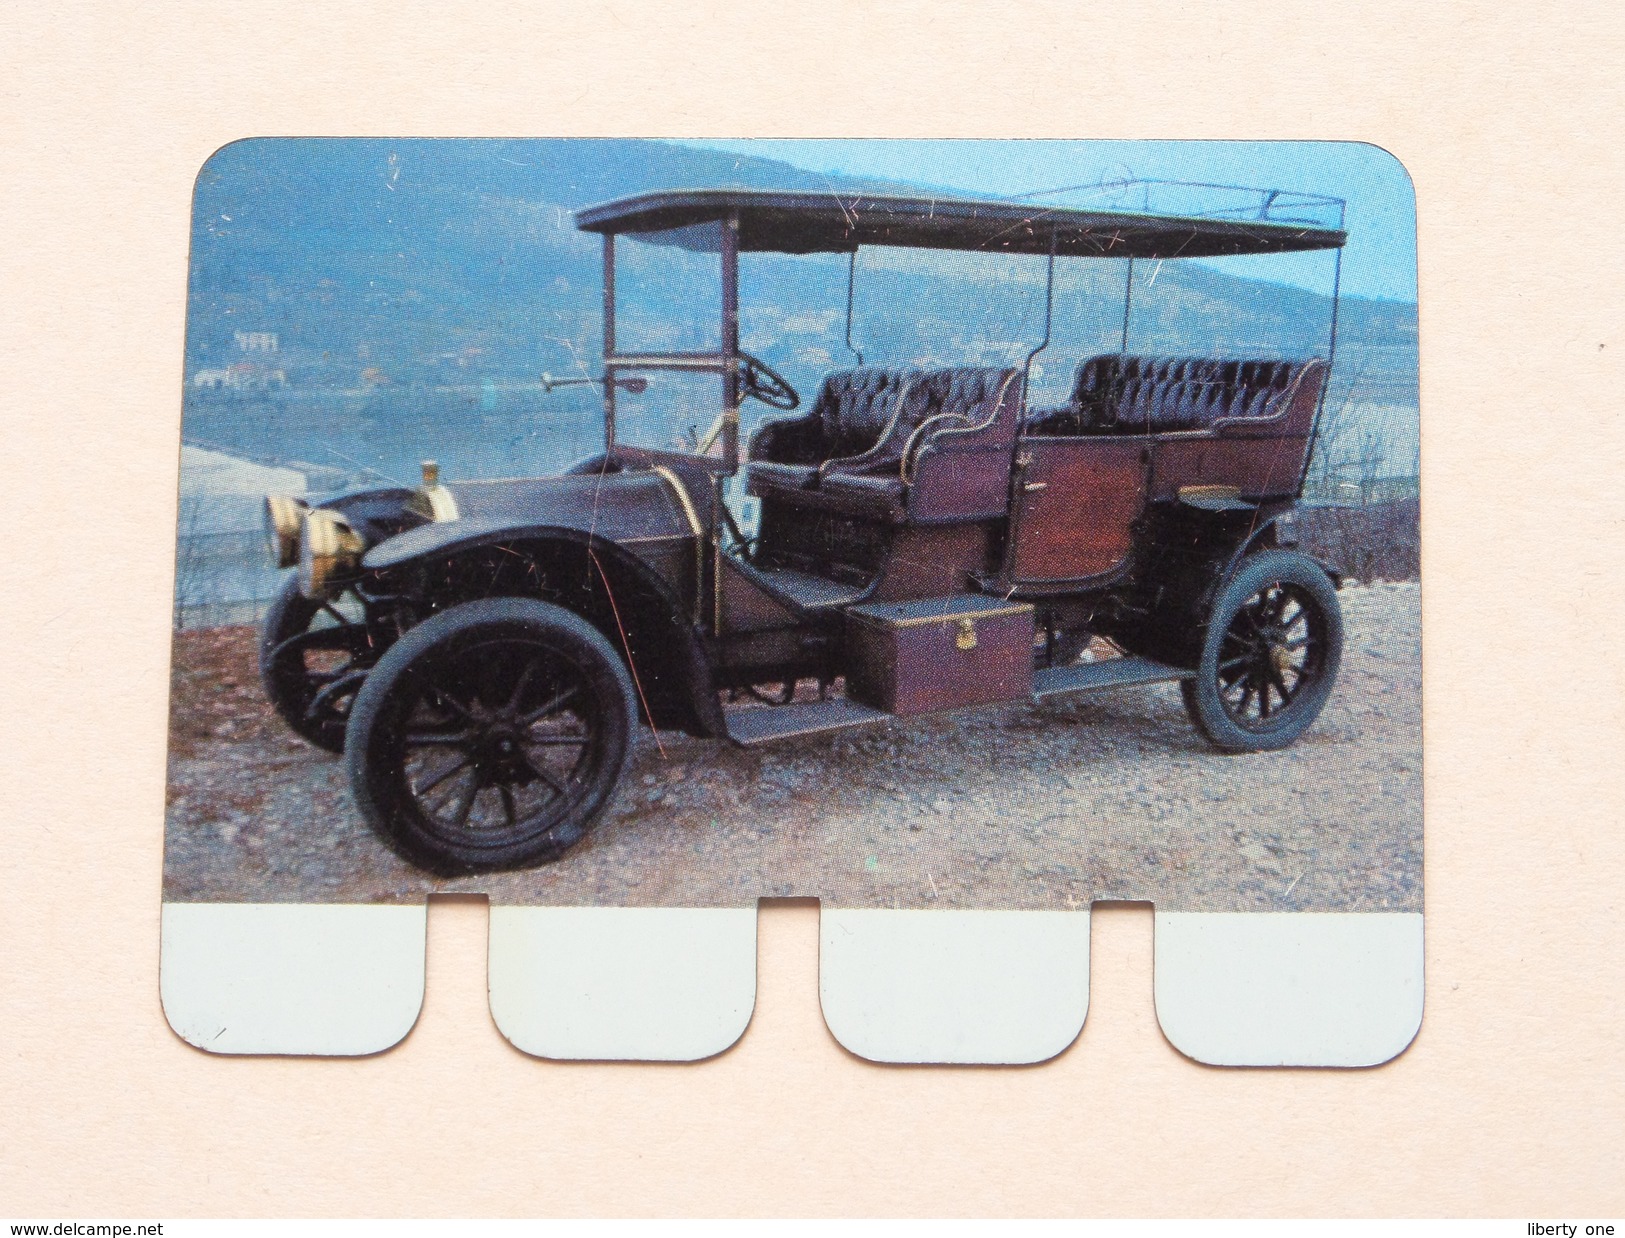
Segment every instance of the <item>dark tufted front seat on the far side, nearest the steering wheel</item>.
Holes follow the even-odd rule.
[[[812,408],[757,427],[748,447],[746,489],[808,491],[827,463],[861,463],[887,439],[915,370],[835,370],[819,383]]]

